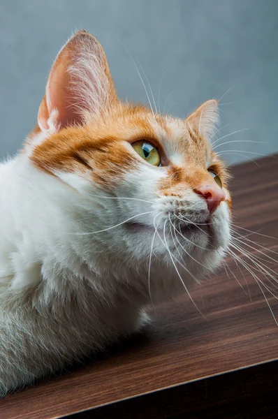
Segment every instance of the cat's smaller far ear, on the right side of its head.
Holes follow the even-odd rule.
[[[206,101],[191,113],[185,119],[185,122],[189,125],[189,128],[193,128],[200,135],[209,139],[219,122],[217,101],[215,99]]]

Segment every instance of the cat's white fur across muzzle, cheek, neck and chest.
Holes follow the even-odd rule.
[[[180,257],[168,214],[174,223],[177,206],[187,216],[194,214],[193,222],[207,216],[204,200],[191,191],[184,191],[178,203],[158,196],[166,170],[143,161],[111,193],[78,173],[56,175],[32,166],[27,153],[0,165],[2,395],[130,335],[147,321],[144,307],[150,301],[184,292],[168,253],[174,260]],[[158,235],[148,281],[154,217]],[[110,228],[131,218],[145,228],[126,223]],[[177,267],[186,286],[198,280],[200,268],[203,274],[214,270],[228,246],[225,203],[213,219],[213,245],[205,231],[188,233],[191,243],[179,237],[204,265],[202,269],[183,252],[187,271]],[[168,249],[163,244],[165,221]],[[110,229],[96,233],[105,228]]]

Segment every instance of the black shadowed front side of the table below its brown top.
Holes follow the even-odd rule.
[[[277,419],[278,362],[189,381],[68,419]]]

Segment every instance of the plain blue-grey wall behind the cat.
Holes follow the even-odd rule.
[[[120,97],[147,101],[127,48],[156,100],[161,83],[161,110],[185,117],[224,95],[219,136],[249,128],[221,140],[244,150],[229,163],[278,151],[278,0],[1,0],[0,156],[36,124],[54,57],[81,28],[101,41]]]

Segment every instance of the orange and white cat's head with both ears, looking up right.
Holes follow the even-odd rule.
[[[101,45],[80,31],[54,61],[27,148],[91,205],[86,228],[101,230],[91,238],[106,241],[108,256],[147,271],[153,253],[152,264],[195,277],[217,267],[230,240],[216,124],[215,100],[184,120],[119,101]]]

